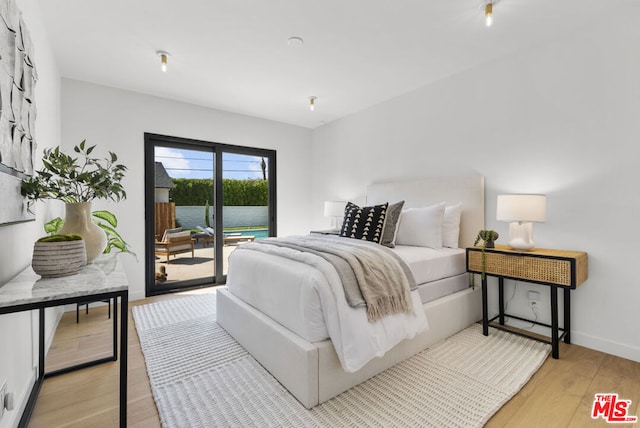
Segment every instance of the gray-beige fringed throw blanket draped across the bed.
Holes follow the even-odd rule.
[[[287,247],[327,260],[340,276],[349,306],[366,306],[370,322],[390,314],[413,312],[409,294],[417,287],[413,273],[387,247],[324,235],[263,239],[256,244]]]

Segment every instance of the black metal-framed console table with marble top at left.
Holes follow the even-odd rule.
[[[116,361],[118,339],[118,297],[120,298],[120,426],[127,426],[127,329],[129,287],[127,276],[117,255],[103,255],[86,265],[75,275],[60,278],[41,278],[31,267],[0,287],[0,315],[38,310],[38,376],[29,395],[19,426],[27,426],[33,413],[42,382],[46,377],[68,373],[108,361]],[[114,300],[113,355],[66,367],[54,372],[45,371],[45,308],[98,300]]]

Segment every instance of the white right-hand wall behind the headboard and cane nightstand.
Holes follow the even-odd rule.
[[[545,193],[538,246],[589,254],[589,280],[572,292],[573,342],[640,361],[639,17],[638,5],[612,10],[595,29],[316,129],[314,227],[329,226],[322,201],[363,202],[371,182],[481,174],[486,226],[505,243],[496,195]],[[528,289],[549,322],[546,287],[519,283],[509,309],[530,315]]]

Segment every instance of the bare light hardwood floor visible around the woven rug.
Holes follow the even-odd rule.
[[[131,306],[175,298],[158,296],[130,303]],[[96,350],[109,352],[111,321],[106,306],[81,313],[66,313],[47,357],[47,368],[63,362],[91,358]],[[149,378],[129,316],[128,426],[159,427],[160,420],[151,395]],[[632,400],[630,414],[640,416],[640,363],[562,344],[560,359],[549,357],[522,390],[488,422],[487,427],[588,427],[607,426],[591,419],[594,394],[616,392]],[[460,409],[464,412],[464,409]],[[44,382],[30,427],[117,427],[118,363],[106,363]],[[616,424],[616,426],[631,426]],[[635,426],[640,426],[640,423]]]

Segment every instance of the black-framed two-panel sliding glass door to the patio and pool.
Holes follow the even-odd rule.
[[[145,134],[147,296],[223,284],[231,252],[275,236],[275,151]]]

